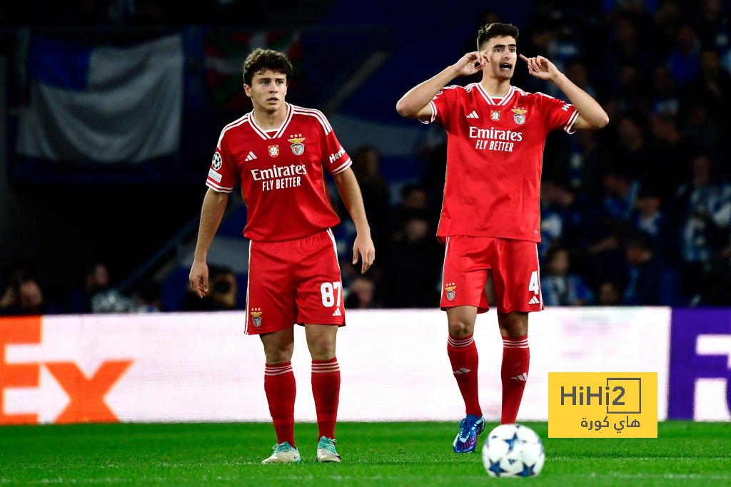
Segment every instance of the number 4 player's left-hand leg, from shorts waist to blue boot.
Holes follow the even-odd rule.
[[[474,321],[478,312],[485,312],[485,282],[487,266],[482,261],[488,239],[450,237],[444,250],[442,309],[447,310],[447,356],[452,375],[465,403],[466,417],[452,442],[457,453],[477,448],[477,436],[485,428],[480,409],[477,382],[479,356],[474,343]]]

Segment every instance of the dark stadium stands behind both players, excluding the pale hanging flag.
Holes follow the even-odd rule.
[[[521,53],[546,55],[610,115],[596,134],[548,139],[540,249],[547,304],[731,304],[728,2],[487,5],[2,2],[0,312],[244,306],[240,198],[231,199],[214,241],[221,245],[209,258],[220,267],[216,292],[227,297],[197,303],[185,289],[213,148],[221,128],[250,110],[240,78],[216,66],[240,64],[252,39],[287,50],[295,64],[287,100],[323,110],[354,158],[376,266],[368,279],[356,279],[347,263],[352,226],[342,224],[346,304],[436,306],[443,250],[433,234],[444,134],[401,120],[395,102],[474,49],[477,27],[494,20],[515,23]],[[47,45],[127,48],[168,36],[183,39],[175,150],[113,163],[50,161],[19,150],[20,115],[31,104],[35,73],[29,53],[43,55]],[[529,79],[521,63],[513,84],[560,96]],[[560,261],[556,270],[552,259]],[[561,262],[568,271],[558,269]],[[108,282],[99,277],[104,268]],[[29,281],[43,296],[31,309],[15,299]]]

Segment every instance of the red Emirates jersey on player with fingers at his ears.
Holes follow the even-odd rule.
[[[447,130],[440,239],[471,235],[540,242],[543,146],[553,129],[573,133],[575,107],[514,86],[494,99],[480,83],[445,86],[429,105],[431,121]]]

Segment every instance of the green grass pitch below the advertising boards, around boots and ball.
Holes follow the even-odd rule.
[[[275,442],[269,424],[4,426],[0,484],[731,484],[731,423],[670,421],[657,439],[611,440],[551,439],[548,424],[526,424],[547,458],[541,475],[525,480],[488,478],[479,453],[452,453],[457,423],[340,423],[342,464],[317,464],[317,426],[298,424],[303,463],[294,465],[261,464]]]

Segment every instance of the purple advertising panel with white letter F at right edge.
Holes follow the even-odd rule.
[[[731,313],[673,310],[667,417],[731,420]]]

